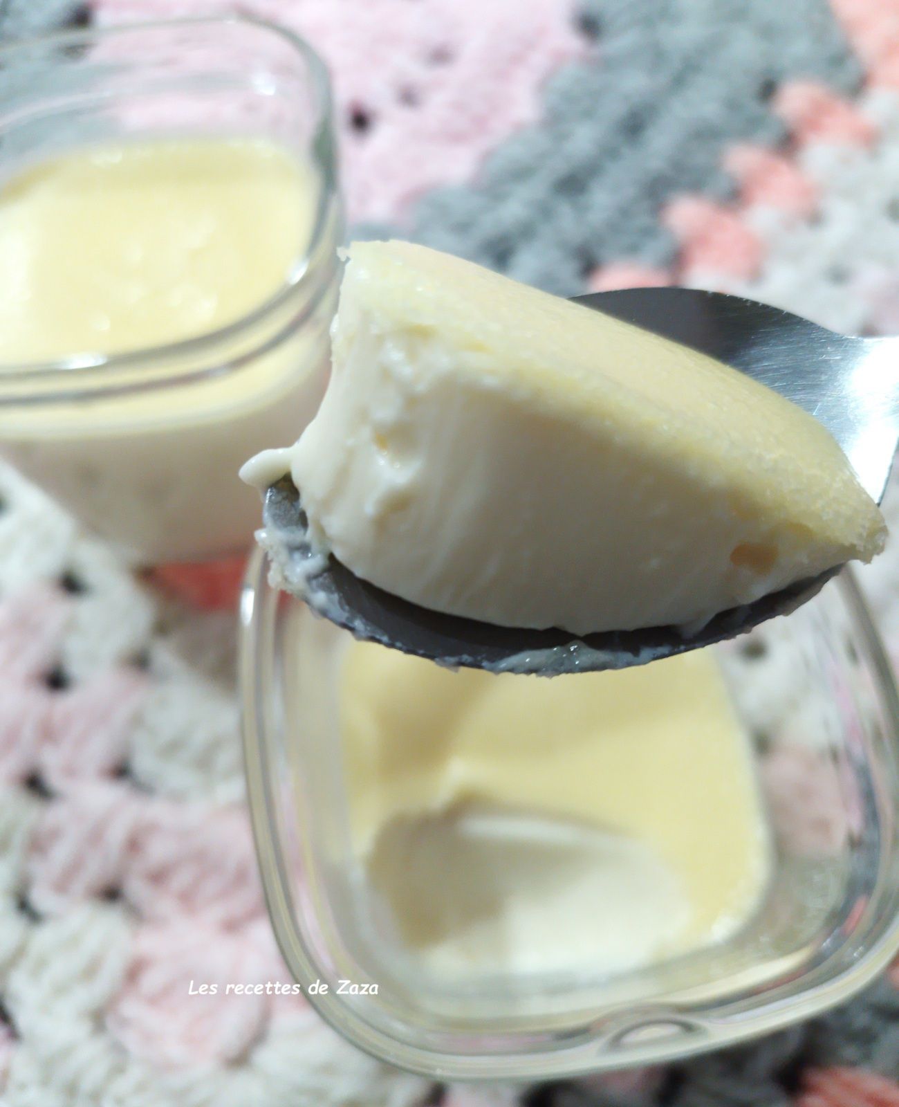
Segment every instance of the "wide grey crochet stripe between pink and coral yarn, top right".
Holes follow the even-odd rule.
[[[779,81],[860,79],[825,0],[592,0],[580,24],[596,58],[556,75],[545,120],[476,184],[426,196],[412,237],[567,296],[604,259],[668,262],[661,206],[728,193],[725,145],[782,136],[767,103]]]

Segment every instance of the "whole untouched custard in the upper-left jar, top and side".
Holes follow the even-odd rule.
[[[0,451],[142,560],[245,548],[258,499],[237,469],[296,434],[327,377],[333,227],[308,258],[322,187],[287,147],[239,137],[87,147],[8,178]],[[247,322],[303,266],[324,281],[308,319],[293,296]],[[91,370],[96,354],[134,360]],[[13,379],[58,361],[73,368]]]

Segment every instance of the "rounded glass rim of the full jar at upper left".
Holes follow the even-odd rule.
[[[211,331],[176,342],[162,343],[154,346],[142,346],[136,350],[127,350],[121,353],[102,354],[95,352],[83,352],[68,358],[51,361],[25,362],[21,364],[0,362],[0,384],[12,384],[18,387],[27,385],[30,381],[40,382],[45,389],[53,382],[71,394],[72,390],[78,390],[81,374],[94,373],[96,370],[106,371],[128,371],[145,370],[148,364],[166,364],[178,359],[192,359],[202,355],[207,350],[215,350],[223,344],[228,344],[238,339],[247,330],[266,322],[270,317],[276,315],[290,300],[304,287],[310,289],[310,299],[318,301],[323,290],[323,282],[318,281],[316,288],[314,267],[310,267],[310,259],[316,246],[322,240],[327,232],[328,224],[332,215],[332,193],[331,187],[334,176],[333,156],[331,153],[331,127],[333,121],[333,96],[331,92],[331,81],[328,68],[314,49],[299,34],[289,28],[269,19],[259,19],[255,15],[235,13],[228,15],[196,15],[164,20],[143,20],[132,23],[120,23],[113,27],[102,28],[78,28],[69,31],[55,31],[48,34],[34,35],[29,39],[21,39],[17,42],[0,46],[0,68],[6,68],[16,58],[27,56],[29,52],[35,50],[53,49],[78,49],[86,46],[92,42],[104,39],[124,38],[130,34],[142,34],[152,31],[166,29],[178,30],[182,28],[203,27],[248,27],[270,33],[286,42],[297,54],[302,58],[309,79],[317,97],[317,118],[310,135],[310,148],[318,152],[319,159],[323,163],[324,177],[323,185],[316,208],[316,216],[312,221],[312,229],[309,237],[309,245],[303,256],[291,268],[287,279],[280,284],[278,290],[267,297],[258,307],[246,312],[234,322],[224,327],[218,327]],[[306,312],[303,312],[306,313]],[[289,329],[289,328],[288,328]],[[280,333],[280,332],[279,332]],[[266,343],[267,345],[269,343]],[[258,353],[258,351],[254,351]],[[238,359],[242,362],[242,359]],[[227,365],[217,365],[217,371]],[[22,399],[17,395],[12,403],[28,402],[29,397]],[[60,399],[60,394],[53,391],[43,393],[42,400],[54,401]],[[3,403],[0,396],[0,404]]]

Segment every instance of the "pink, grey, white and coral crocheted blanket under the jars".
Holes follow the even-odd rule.
[[[229,7],[7,0],[0,34]],[[899,0],[240,7],[330,64],[359,235],[566,294],[694,284],[899,331]],[[899,528],[899,496],[888,514]],[[232,617],[208,602],[228,571],[137,579],[0,467],[3,1104],[899,1105],[899,969],[748,1046],[530,1088],[391,1070],[294,996],[188,997],[287,980],[242,803]],[[864,583],[899,660],[895,542]]]

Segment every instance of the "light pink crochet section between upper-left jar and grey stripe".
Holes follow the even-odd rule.
[[[105,23],[234,7],[96,2]],[[426,189],[468,180],[497,143],[538,117],[542,83],[583,50],[558,0],[246,0],[239,8],[299,31],[328,62],[353,220],[399,219]]]

